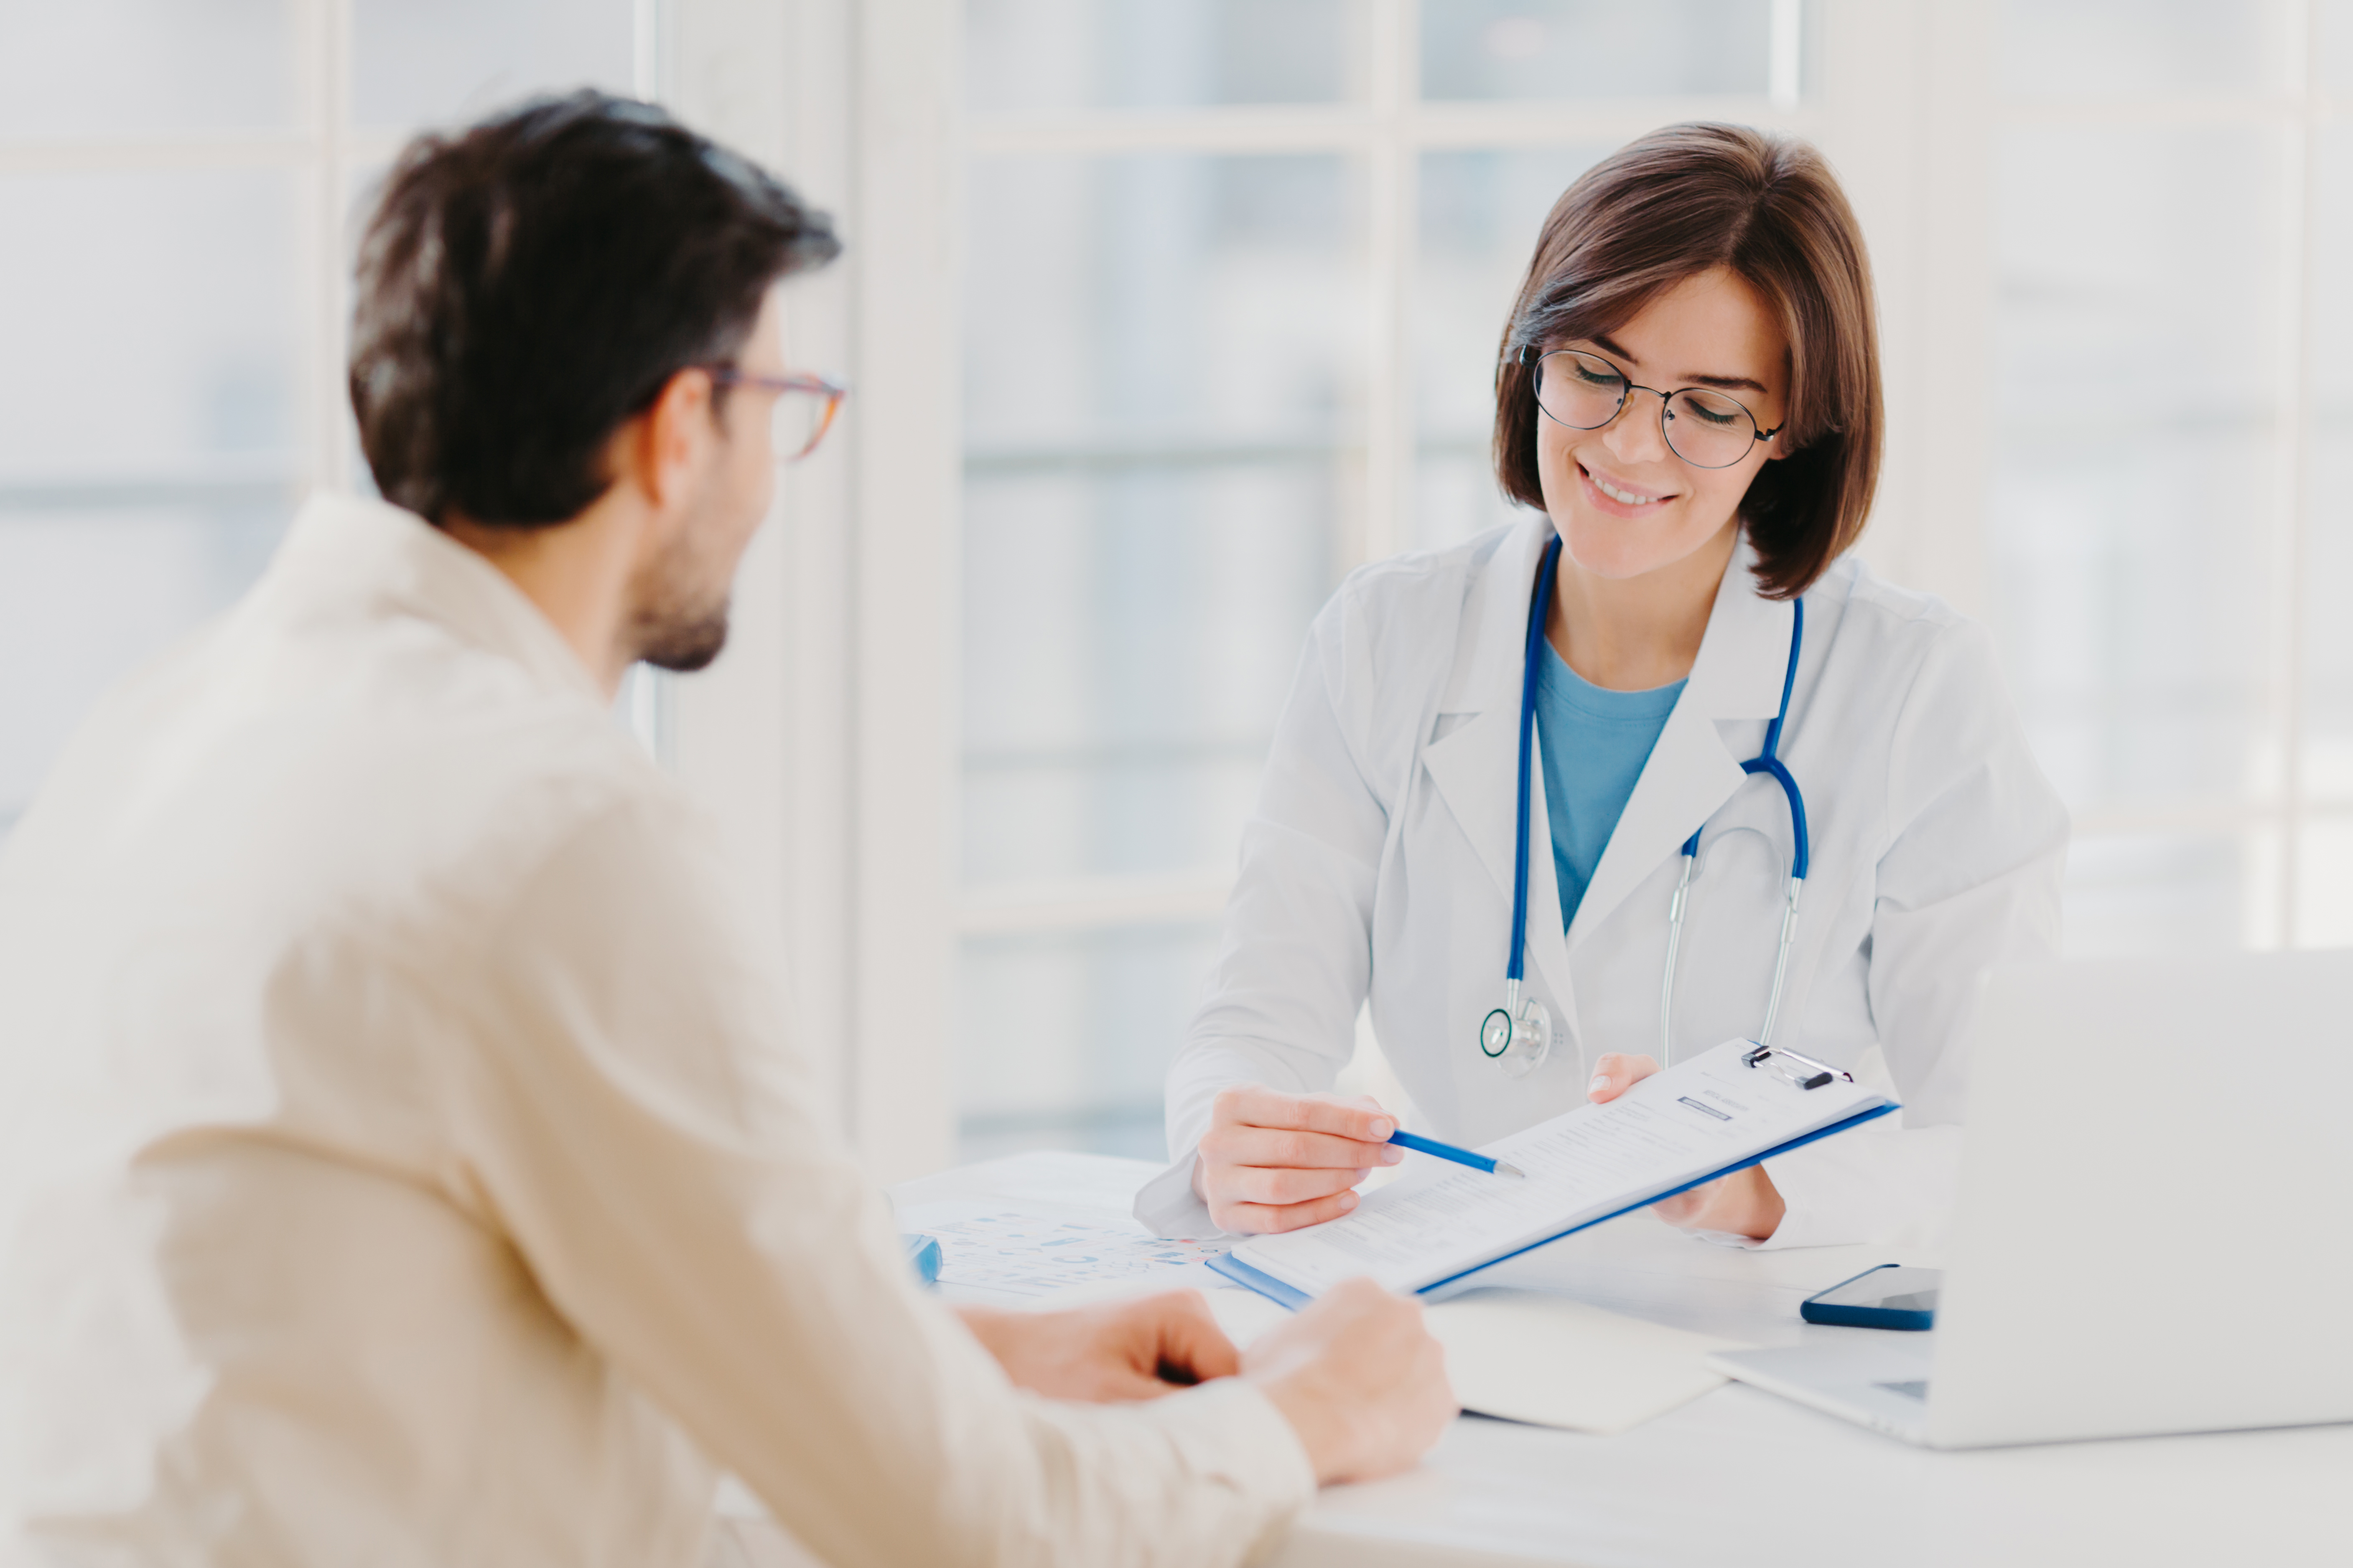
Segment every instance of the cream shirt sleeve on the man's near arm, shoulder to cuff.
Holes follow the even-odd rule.
[[[581,1340],[819,1559],[1235,1563],[1313,1493],[1254,1387],[1016,1392],[915,1288],[704,825],[605,811],[480,943],[459,1159]]]

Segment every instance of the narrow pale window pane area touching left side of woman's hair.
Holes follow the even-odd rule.
[[[1407,543],[1435,548],[1504,522],[1494,487],[1494,355],[1537,233],[1607,148],[1424,153],[1414,256],[1417,487]]]

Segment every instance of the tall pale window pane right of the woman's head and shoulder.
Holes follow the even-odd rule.
[[[2268,797],[2278,143],[2012,132],[1998,181],[1986,536],[2035,752],[2078,811]]]

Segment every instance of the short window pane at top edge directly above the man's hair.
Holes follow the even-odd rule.
[[[633,0],[353,0],[353,118],[405,129],[536,92],[626,94],[635,42]]]

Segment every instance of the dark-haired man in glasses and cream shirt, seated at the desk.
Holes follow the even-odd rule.
[[[718,1467],[828,1563],[1233,1563],[1435,1441],[1369,1284],[1247,1356],[1198,1295],[922,1295],[612,722],[720,651],[833,252],[598,94],[393,169],[386,503],[313,501],[0,856],[0,1556],[689,1566]]]

